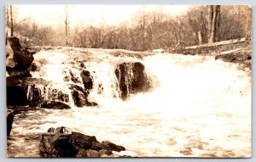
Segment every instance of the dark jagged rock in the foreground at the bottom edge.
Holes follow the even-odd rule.
[[[110,156],[112,151],[125,151],[125,148],[113,142],[98,142],[96,137],[79,132],[43,134],[39,144],[40,156],[98,158]]]

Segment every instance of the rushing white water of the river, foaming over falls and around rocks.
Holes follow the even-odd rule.
[[[33,72],[33,77],[64,89],[68,81],[63,81],[63,70],[72,70],[79,78],[83,62],[94,79],[89,98],[99,106],[39,109],[28,111],[26,117],[16,116],[9,156],[38,156],[38,142],[26,136],[57,126],[123,145],[127,151],[120,154],[131,156],[251,156],[249,70],[206,56],[160,53],[139,60],[90,52],[89,58],[78,51],[67,54],[61,50],[35,55],[40,70]],[[114,68],[123,61],[143,62],[154,88],[127,101],[116,98],[119,90]],[[82,85],[82,81],[76,84]],[[33,143],[30,148],[27,142]]]

